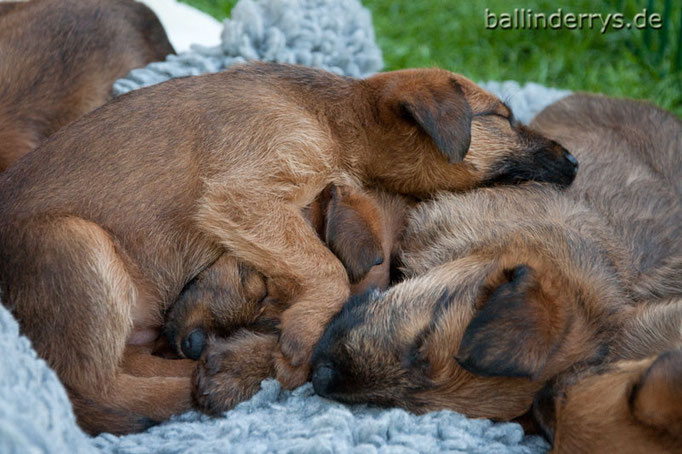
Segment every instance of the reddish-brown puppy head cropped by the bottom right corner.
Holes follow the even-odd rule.
[[[553,380],[533,414],[552,452],[682,450],[682,351]]]

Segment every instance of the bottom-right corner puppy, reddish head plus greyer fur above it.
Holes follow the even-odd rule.
[[[555,453],[682,451],[682,299],[628,320],[616,361],[562,374],[533,414]]]

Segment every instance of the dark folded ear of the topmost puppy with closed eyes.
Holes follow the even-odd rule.
[[[471,108],[459,84],[452,81],[446,93],[405,96],[400,103],[403,115],[433,139],[448,161],[461,162],[471,145]]]

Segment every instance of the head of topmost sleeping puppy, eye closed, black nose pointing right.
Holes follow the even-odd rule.
[[[409,184],[432,192],[434,182],[450,190],[526,180],[567,186],[575,178],[570,153],[521,125],[503,102],[461,75],[413,69],[363,83],[378,125],[369,131],[368,173],[392,190]],[[415,160],[424,173],[415,173]]]

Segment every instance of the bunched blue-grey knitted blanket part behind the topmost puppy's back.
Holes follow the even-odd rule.
[[[222,45],[194,46],[134,69],[114,84],[114,93],[249,60],[296,63],[353,77],[366,77],[383,65],[369,11],[357,0],[241,0],[224,22]]]

